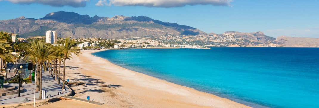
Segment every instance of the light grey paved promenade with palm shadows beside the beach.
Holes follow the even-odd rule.
[[[4,85],[6,85],[6,84],[4,84]],[[19,87],[18,83],[12,83],[12,84],[8,84],[8,85]],[[46,100],[53,99],[53,98],[59,98],[60,96],[72,94],[71,89],[67,85],[65,85],[65,92],[63,92],[61,90],[61,87],[62,87],[62,80],[60,80],[60,85],[58,85],[48,72],[46,72],[46,73],[42,72],[42,90],[46,90],[46,97],[48,95],[53,96],[51,98],[47,98]],[[20,94],[21,95],[20,97],[18,97],[18,94],[1,96],[0,101],[1,101],[2,105],[0,104],[0,107],[33,104],[34,81],[30,84],[22,85],[22,88],[24,88],[25,90],[24,90],[24,92],[22,92]],[[35,94],[36,103],[41,102],[41,99],[38,100],[40,92],[36,92],[36,94]],[[58,92],[61,92],[62,94],[58,95]],[[25,98],[27,98],[29,101],[24,102]]]

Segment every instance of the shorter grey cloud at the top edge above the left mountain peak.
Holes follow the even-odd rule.
[[[39,3],[50,5],[54,7],[72,6],[72,7],[85,7],[86,3],[90,0],[5,0],[17,4],[32,4]]]

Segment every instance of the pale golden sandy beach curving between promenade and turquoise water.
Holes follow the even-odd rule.
[[[92,105],[74,100],[60,100],[38,107],[114,107],[114,108],[248,108],[227,98],[199,92],[189,87],[134,72],[117,66],[91,53],[102,50],[82,50],[83,54],[66,61],[66,79],[85,85],[69,86],[74,97],[104,103]],[[62,73],[63,68],[61,68]],[[59,106],[56,106],[59,105]],[[31,107],[31,106],[29,106]],[[33,107],[33,105],[32,105]],[[64,107],[64,106],[63,106]]]

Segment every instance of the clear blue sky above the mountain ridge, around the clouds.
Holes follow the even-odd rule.
[[[319,38],[318,0],[0,0],[0,20],[57,11],[93,17],[148,16],[206,33],[256,32]]]

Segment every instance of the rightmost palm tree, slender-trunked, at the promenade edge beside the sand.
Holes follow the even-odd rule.
[[[78,56],[78,54],[82,54],[80,52],[80,49],[77,48],[77,42],[75,42],[74,40],[71,40],[70,37],[66,38],[62,45],[61,45],[61,53],[63,54],[63,79],[62,79],[62,89],[65,88],[65,60],[67,58],[72,58],[71,55],[75,54]]]

